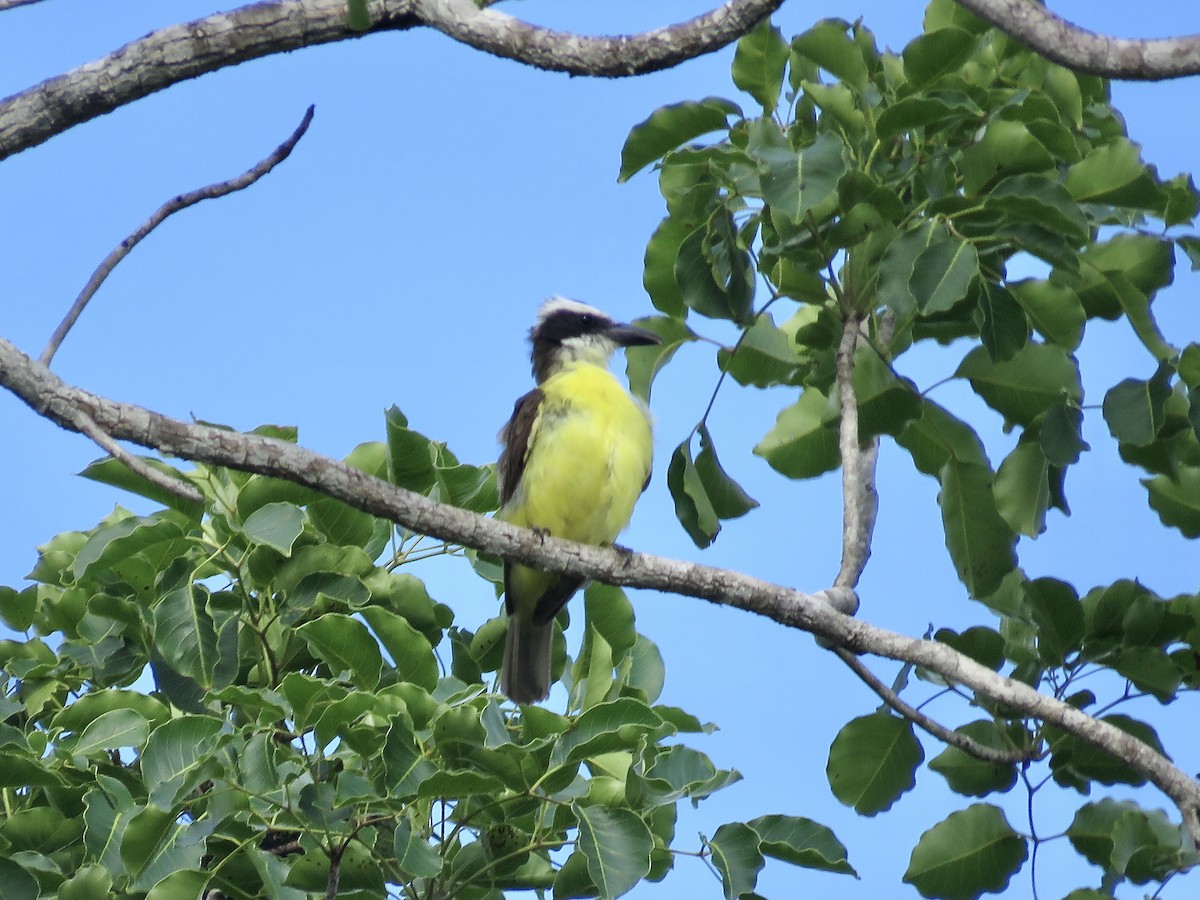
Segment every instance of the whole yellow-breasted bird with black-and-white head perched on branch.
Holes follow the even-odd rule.
[[[649,485],[650,414],[608,371],[618,347],[661,343],[593,306],[552,296],[529,330],[536,388],[500,431],[497,517],[541,534],[611,545]],[[516,703],[550,696],[554,617],[586,580],[504,563],[508,634],[500,690]]]

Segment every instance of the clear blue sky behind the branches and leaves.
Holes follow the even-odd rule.
[[[688,18],[706,4],[527,0],[502,8],[557,28],[630,32]],[[1181,6],[1052,4],[1094,30],[1129,37],[1200,31],[1195,8],[1190,22],[1181,22]],[[192,0],[48,0],[0,13],[0,94],[211,11]],[[922,5],[791,0],[775,20],[791,36],[827,16],[862,17],[881,47],[899,50],[919,31]],[[536,72],[413,31],[311,48],[178,85],[0,166],[0,335],[37,355],[95,265],[158,204],[240,173],[314,103],[308,134],[276,172],[172,218],[118,268],[67,337],[55,371],[178,418],[239,428],[296,425],[304,444],[337,457],[382,439],[383,409],[395,403],[413,427],[446,440],[461,458],[492,460],[496,432],[528,389],[523,335],[544,296],[575,296],[624,318],[652,311],[641,263],[664,210],[653,174],[617,184],[620,146],[630,126],[664,103],[732,95],[731,53],[644,78],[594,80]],[[1195,170],[1200,79],[1118,84],[1114,94],[1162,174]],[[1177,344],[1198,340],[1200,330],[1200,278],[1184,270],[1156,301]],[[707,334],[727,335],[719,328]],[[1090,323],[1087,338],[1081,362],[1088,402],[1121,378],[1153,371],[1123,324]],[[749,452],[793,398],[786,390],[726,385],[710,420],[722,462],[762,506],[728,523],[704,552],[674,521],[666,458],[708,402],[710,353],[685,348],[655,386],[659,466],[623,542],[800,589],[826,587],[839,558],[836,480],[786,481]],[[926,386],[960,356],[956,348],[913,354],[901,370]],[[934,396],[977,424],[998,463],[1012,445],[998,418],[961,385]],[[139,509],[130,497],[74,478],[100,451],[7,395],[0,396],[0,428],[8,438],[0,464],[10,473],[0,488],[0,583],[19,584],[34,547],[53,534],[90,527],[115,503]],[[1092,452],[1068,481],[1074,515],[1052,512],[1045,535],[1022,539],[1026,570],[1070,581],[1080,593],[1120,577],[1139,577],[1166,596],[1195,590],[1195,544],[1159,524],[1098,412],[1088,414],[1085,437]],[[910,635],[931,623],[992,624],[954,577],[936,484],[889,443],[880,492],[860,614]],[[494,611],[487,586],[458,563],[416,574],[464,626]],[[875,696],[806,635],[697,600],[638,592],[634,602],[640,630],[666,660],[665,702],[718,722],[721,731],[694,744],[745,775],[698,810],[682,810],[678,846],[695,850],[697,832],[712,834],[731,820],[804,815],[838,833],[862,880],[772,863],[760,893],[916,896],[899,883],[911,847],[961,798],[922,770],[917,788],[890,812],[864,820],[832,798],[824,778],[838,728],[871,712]],[[890,680],[895,668],[877,671]],[[1130,714],[1159,722],[1183,769],[1200,769],[1198,698],[1169,710],[1141,703]],[[929,712],[952,725],[973,718],[948,701]],[[925,746],[928,757],[941,750],[934,742]],[[1164,805],[1153,792],[1142,802]],[[1024,793],[1003,803],[1024,829]],[[1056,802],[1039,794],[1039,830],[1062,830],[1075,803],[1074,796]],[[1098,870],[1076,860],[1063,841],[1043,848],[1043,896],[1098,882]],[[1174,882],[1164,896],[1194,895],[1200,876],[1187,881]],[[1010,890],[1021,896],[1028,888],[1026,866]],[[710,874],[689,858],[662,884],[634,894],[719,895]]]

